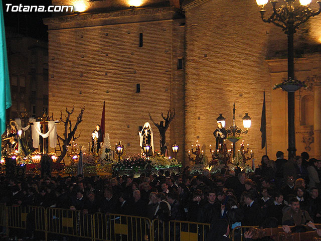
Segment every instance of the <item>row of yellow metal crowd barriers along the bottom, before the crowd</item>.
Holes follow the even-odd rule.
[[[38,206],[6,206],[0,204],[0,226],[9,233],[15,228],[25,229],[26,233],[41,231],[47,234],[69,235],[90,240],[107,241],[205,241],[210,230],[209,223],[171,220],[150,221],[145,217],[121,214],[84,214],[80,210],[47,208]],[[244,232],[251,227],[238,226],[231,232],[233,241],[244,240]],[[320,228],[320,224],[316,224]],[[265,228],[264,235],[279,235],[282,227]],[[41,234],[43,235],[43,234]],[[291,234],[294,240],[307,240],[318,237],[315,231]]]

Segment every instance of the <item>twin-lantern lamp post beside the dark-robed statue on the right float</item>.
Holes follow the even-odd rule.
[[[222,114],[220,114],[220,116],[217,118],[217,122],[222,122],[222,121],[219,121],[219,119],[224,119],[225,121],[225,118],[222,116]],[[239,136],[242,133],[247,134],[249,128],[251,127],[251,117],[248,115],[248,113],[245,113],[242,119],[243,119],[243,127],[245,128],[245,130],[242,130],[241,128],[235,125],[235,103],[233,103],[233,123],[232,123],[232,126],[226,129],[227,135],[232,136],[231,138],[228,138],[228,140],[233,143],[233,158],[235,158],[235,143],[239,140],[238,138],[236,138],[235,135]]]

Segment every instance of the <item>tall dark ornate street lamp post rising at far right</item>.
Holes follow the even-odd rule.
[[[278,1],[272,0],[273,12],[271,16],[264,18],[264,6],[268,0],[256,0],[257,5],[261,8],[261,18],[265,23],[273,23],[281,27],[287,35],[287,77],[294,80],[294,51],[293,51],[293,34],[296,29],[310,17],[318,15],[321,12],[321,1],[319,10],[314,12],[309,8],[311,0],[299,0],[299,5],[294,6],[295,0],[285,0],[285,5],[276,8]],[[299,89],[285,89],[287,91],[287,113],[288,113],[288,152],[289,156],[295,156],[295,131],[294,131],[294,92]]]

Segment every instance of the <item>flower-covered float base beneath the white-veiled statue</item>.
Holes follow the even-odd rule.
[[[115,162],[112,165],[113,176],[131,175],[133,177],[139,177],[144,174],[157,174],[159,170],[170,173],[180,173],[182,163],[175,158],[165,157],[161,154],[155,154],[154,156],[144,157],[144,155],[135,155],[126,159]]]

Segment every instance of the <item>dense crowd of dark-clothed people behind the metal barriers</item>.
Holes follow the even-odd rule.
[[[180,174],[160,170],[139,178],[1,177],[0,203],[211,223],[212,240],[225,240],[240,225],[306,224],[316,229],[313,223],[321,222],[321,160],[309,159],[307,153],[288,160],[283,155],[277,152],[275,161],[263,156],[249,174],[223,168],[194,176],[186,167]],[[215,228],[222,225],[224,233]]]

